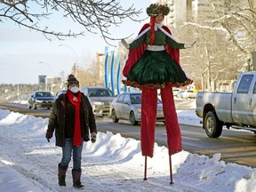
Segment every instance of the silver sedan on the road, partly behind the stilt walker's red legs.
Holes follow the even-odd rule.
[[[157,99],[156,121],[164,122],[163,105]],[[130,120],[132,125],[136,125],[141,120],[141,92],[124,92],[113,100],[110,106],[111,118],[113,123],[119,119]]]

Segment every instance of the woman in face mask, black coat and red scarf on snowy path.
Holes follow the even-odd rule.
[[[73,186],[83,188],[81,182],[81,159],[84,141],[94,143],[97,136],[92,106],[84,93],[79,91],[75,76],[68,76],[68,90],[55,101],[49,118],[46,139],[50,142],[55,131],[56,146],[62,148],[62,158],[58,164],[59,185],[66,186],[66,172],[73,154]]]

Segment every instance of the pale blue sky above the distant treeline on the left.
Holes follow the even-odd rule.
[[[141,8],[140,19],[147,18],[146,8],[151,4],[150,0],[121,0],[120,2],[124,7],[134,4],[137,9]],[[56,20],[46,20],[46,22],[55,28],[66,30],[71,28],[76,32],[82,28],[74,22],[64,23],[61,17]],[[132,34],[132,37],[135,37],[144,22],[124,20],[119,28],[109,28],[109,30],[115,37]],[[90,62],[88,60],[95,58],[96,52],[104,52],[106,45],[108,44],[100,34],[92,35],[87,31],[85,36],[67,38],[65,41],[52,36],[52,41],[49,41],[38,32],[20,28],[11,20],[4,20],[0,25],[0,84],[37,84],[39,75],[59,76],[61,70],[68,75],[75,62],[80,68],[85,68]],[[109,50],[111,49],[115,48],[109,47]]]

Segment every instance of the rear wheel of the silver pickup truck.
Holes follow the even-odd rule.
[[[208,137],[218,138],[222,132],[222,124],[218,117],[212,112],[208,111],[204,117],[204,129]]]

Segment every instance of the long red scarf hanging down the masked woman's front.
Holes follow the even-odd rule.
[[[73,140],[73,146],[81,146],[82,140],[81,140],[81,127],[80,127],[80,104],[81,104],[81,95],[82,93],[80,91],[77,92],[77,96],[67,91],[68,100],[75,105],[75,132],[74,132],[74,140]]]

